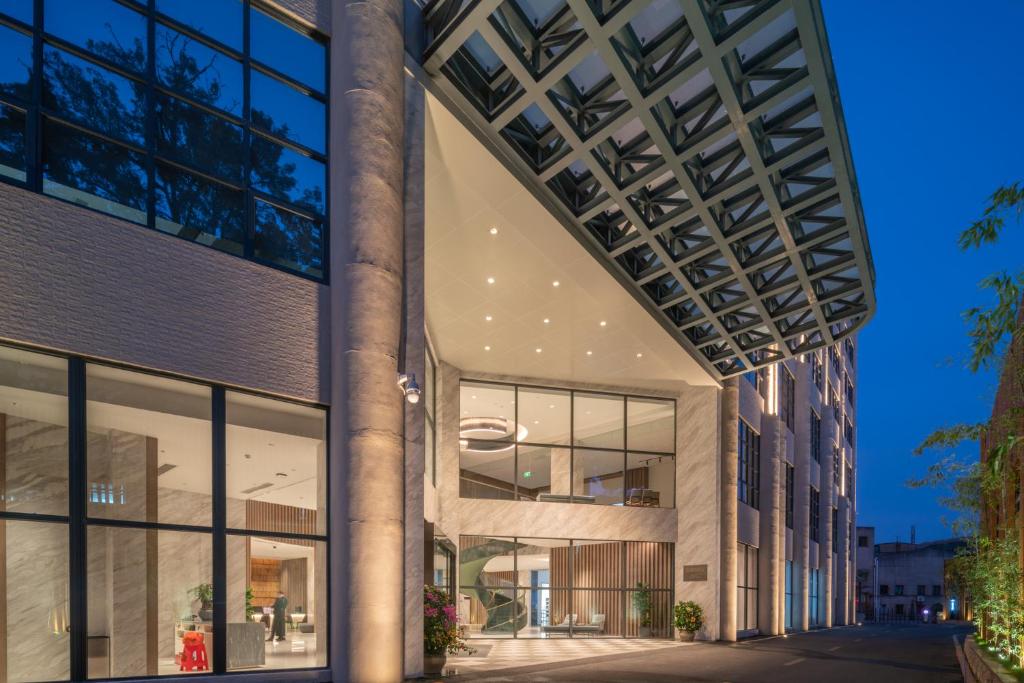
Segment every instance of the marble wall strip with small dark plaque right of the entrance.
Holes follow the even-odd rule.
[[[676,421],[676,600],[705,610],[702,637],[719,637],[721,487],[719,390],[689,387],[679,395]],[[707,581],[683,581],[685,565],[708,565]]]

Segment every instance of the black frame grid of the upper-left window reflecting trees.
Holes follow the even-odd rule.
[[[309,27],[303,26],[302,24],[292,19],[288,15],[284,14],[280,10],[275,9],[273,6],[261,2],[260,0],[240,0],[242,4],[242,35],[243,35],[243,46],[241,49],[230,47],[224,43],[219,42],[216,38],[212,36],[207,36],[196,29],[193,29],[186,24],[183,24],[172,16],[164,14],[157,10],[156,1],[147,0],[146,2],[133,2],[132,0],[111,0],[130,11],[139,14],[144,17],[146,26],[146,63],[141,72],[133,72],[123,66],[111,61],[96,54],[95,52],[90,52],[88,49],[79,47],[78,45],[65,40],[58,36],[52,35],[45,31],[43,27],[43,2],[44,0],[34,0],[33,9],[33,23],[31,25],[19,22],[11,15],[3,14],[0,12],[0,27],[13,30],[23,35],[31,36],[33,40],[33,55],[32,55],[32,79],[30,81],[30,94],[28,98],[20,97],[16,95],[0,95],[0,106],[10,106],[15,111],[24,112],[26,117],[26,130],[25,130],[25,147],[26,147],[26,179],[19,180],[17,178],[12,178],[4,175],[0,175],[0,182],[15,185],[37,194],[44,195],[50,199],[73,204],[80,208],[86,209],[88,211],[94,211],[100,213],[104,216],[110,216],[116,219],[130,223],[130,227],[147,227],[150,229],[160,231],[162,234],[167,234],[169,237],[174,237],[176,239],[182,240],[184,242],[189,242],[191,244],[202,246],[205,248],[213,248],[216,251],[236,256],[239,258],[244,258],[248,261],[253,261],[259,263],[263,266],[273,268],[275,270],[281,270],[292,275],[303,278],[305,280],[311,280],[313,282],[319,282],[329,284],[330,283],[330,272],[329,272],[329,254],[330,254],[330,215],[331,215],[331,193],[330,193],[330,175],[331,175],[331,165],[328,155],[328,150],[325,147],[324,152],[317,152],[310,147],[304,146],[301,143],[291,141],[287,138],[281,137],[280,135],[274,135],[267,133],[262,130],[259,126],[255,125],[250,116],[250,90],[251,90],[251,77],[252,72],[262,73],[264,75],[269,75],[274,79],[288,84],[291,87],[297,88],[301,94],[308,96],[318,102],[322,102],[325,106],[325,121],[324,121],[324,135],[325,140],[330,139],[330,39],[328,36],[321,34],[319,32],[310,29]],[[298,82],[295,78],[290,77],[281,71],[260,62],[251,57],[250,49],[250,15],[252,11],[260,11],[263,14],[270,16],[273,20],[283,24],[287,28],[297,31],[303,35],[308,36],[312,40],[324,45],[324,59],[325,59],[325,88],[321,92],[318,90],[312,89]],[[171,30],[185,36],[189,40],[194,40],[200,45],[208,49],[215,49],[225,57],[238,60],[242,68],[243,74],[243,105],[242,113],[240,115],[228,114],[223,111],[219,111],[215,108],[206,106],[194,99],[189,98],[188,95],[171,89],[169,86],[165,86],[157,76],[156,70],[156,28],[157,26],[165,26]],[[96,127],[90,127],[86,123],[77,122],[72,117],[66,116],[66,113],[56,112],[49,110],[43,102],[43,78],[44,78],[44,61],[43,61],[43,48],[44,45],[59,48],[71,55],[83,59],[91,65],[98,68],[106,70],[112,74],[127,78],[131,82],[139,84],[145,91],[144,96],[144,142],[142,144],[137,144],[122,139],[112,137],[104,134],[102,131],[98,130]],[[184,102],[191,105],[193,108],[199,109],[202,112],[216,117],[218,120],[238,125],[242,128],[245,142],[244,151],[246,154],[244,177],[240,180],[238,178],[227,178],[224,176],[218,176],[215,173],[211,173],[209,170],[200,169],[196,166],[189,165],[187,162],[182,162],[173,157],[163,156],[157,151],[158,139],[157,139],[157,114],[156,114],[156,98],[158,94],[162,95],[173,95],[174,99],[179,102]],[[98,141],[103,144],[110,144],[118,147],[122,152],[129,152],[141,155],[144,158],[145,163],[145,175],[146,184],[145,189],[145,208],[142,213],[145,215],[145,222],[139,223],[131,221],[124,216],[120,216],[117,213],[112,213],[109,211],[103,211],[102,209],[85,206],[81,203],[72,201],[71,199],[66,199],[59,197],[52,193],[44,191],[44,136],[43,129],[44,125],[56,125],[60,129],[66,131],[73,131],[79,134],[84,134],[90,140]],[[304,157],[315,160],[317,163],[324,165],[324,199],[323,199],[323,212],[315,211],[310,207],[304,206],[302,204],[296,204],[290,202],[286,199],[282,199],[276,196],[269,195],[258,189],[252,180],[250,175],[251,157],[252,157],[252,140],[263,139],[274,144],[281,145],[286,150],[293,153],[299,154]],[[209,183],[216,186],[222,190],[229,189],[236,193],[240,193],[244,197],[244,204],[242,207],[243,214],[243,245],[242,254],[234,254],[231,251],[224,249],[216,249],[212,246],[204,245],[203,242],[189,239],[188,237],[173,234],[165,230],[159,230],[157,227],[157,187],[156,187],[156,175],[157,168],[159,166],[174,169],[179,172],[184,172],[195,176],[198,180]],[[83,193],[89,194],[86,190],[81,190]],[[258,204],[266,204],[271,207],[278,208],[279,210],[284,210],[289,214],[298,217],[301,220],[310,221],[318,226],[319,229],[319,270],[321,275],[314,273],[305,272],[296,268],[291,268],[283,264],[273,262],[272,260],[266,258],[260,258],[255,255],[256,251],[256,208]]]

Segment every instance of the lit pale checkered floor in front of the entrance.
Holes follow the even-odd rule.
[[[639,640],[623,638],[562,638],[562,639],[483,639],[469,641],[469,646],[488,645],[484,656],[450,656],[445,673],[475,674],[518,667],[608,654],[636,653],[666,647],[687,647],[687,643],[672,640]],[[482,649],[482,648],[481,648]]]

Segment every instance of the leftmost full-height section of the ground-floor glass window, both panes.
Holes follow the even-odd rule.
[[[0,347],[2,680],[70,677],[68,513],[67,362]]]

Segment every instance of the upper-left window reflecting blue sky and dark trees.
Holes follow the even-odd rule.
[[[325,39],[250,0],[49,0],[39,26],[22,4],[0,8],[0,178],[326,276]]]

